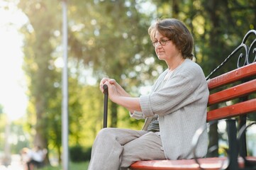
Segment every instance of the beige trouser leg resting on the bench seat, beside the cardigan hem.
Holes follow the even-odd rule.
[[[141,160],[165,159],[160,135],[155,132],[138,137],[123,145],[121,168]]]

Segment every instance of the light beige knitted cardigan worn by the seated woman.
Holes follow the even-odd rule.
[[[140,96],[142,112],[135,111],[133,118],[146,118],[143,130],[147,130],[152,118],[159,115],[160,137],[166,159],[191,159],[191,140],[201,126],[206,126],[208,86],[201,67],[187,59],[160,86],[166,70],[152,86],[152,93]],[[196,149],[198,157],[207,152],[208,136],[205,131]]]

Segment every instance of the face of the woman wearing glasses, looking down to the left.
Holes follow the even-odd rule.
[[[160,40],[168,40],[165,45],[160,45]],[[172,42],[172,40],[169,40],[169,38],[163,36],[158,32],[158,30],[155,32],[155,42],[157,44],[155,45],[155,53],[159,60],[165,60],[167,63],[172,62],[174,58],[179,57],[180,52],[177,49],[176,45]]]

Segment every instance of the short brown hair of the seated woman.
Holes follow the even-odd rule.
[[[182,52],[184,58],[192,59],[194,57],[192,54],[194,38],[182,21],[174,18],[158,19],[156,23],[148,28],[152,41],[155,40],[156,31],[172,40],[177,49]]]

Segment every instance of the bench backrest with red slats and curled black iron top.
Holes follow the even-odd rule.
[[[250,39],[250,42],[249,42]],[[248,45],[248,42],[250,43]],[[221,67],[238,57],[237,67],[210,79]],[[207,121],[256,112],[256,30],[250,30],[242,43],[206,77],[210,96]]]

